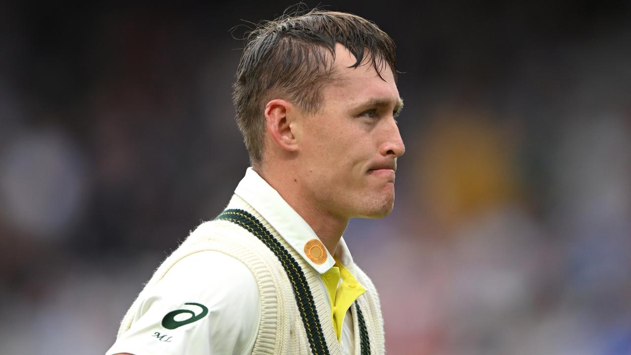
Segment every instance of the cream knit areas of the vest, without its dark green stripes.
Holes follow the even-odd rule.
[[[314,270],[293,248],[280,238],[269,223],[246,202],[235,196],[233,203],[237,207],[252,214],[276,238],[281,245],[298,262],[304,272],[307,284],[312,293],[315,309],[321,320],[322,333],[328,346],[329,354],[341,355],[337,335],[330,322],[330,310],[326,291],[322,288],[320,274]],[[145,292],[161,280],[168,270],[182,258],[199,251],[214,250],[232,256],[244,263],[254,275],[261,296],[261,322],[252,354],[311,354],[309,339],[305,332],[300,312],[295,301],[292,286],[278,258],[256,236],[243,227],[232,222],[216,220],[201,224],[177,250],[157,268],[155,274],[140,292],[121,322],[119,337],[129,330],[135,321],[139,308],[144,300]],[[377,291],[370,279],[356,267],[357,280],[366,289],[357,299],[359,308],[367,327],[370,341],[370,354],[384,354],[383,319],[379,306]],[[362,349],[357,310],[351,308],[355,323],[355,351],[357,355],[365,354]]]

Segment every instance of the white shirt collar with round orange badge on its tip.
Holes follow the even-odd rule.
[[[353,258],[344,238],[339,239],[335,255],[331,255],[309,224],[252,167],[245,171],[244,178],[235,189],[235,195],[249,203],[261,217],[276,229],[281,238],[285,239],[320,274],[324,274],[335,265],[334,259],[355,274]],[[317,255],[311,255],[310,251],[317,254],[317,247],[326,250],[327,253],[327,258],[322,263],[312,260]]]

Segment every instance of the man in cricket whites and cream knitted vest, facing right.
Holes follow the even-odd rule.
[[[377,292],[342,234],[394,203],[394,43],[355,15],[283,16],[249,36],[234,102],[252,167],[107,354],[383,354]]]

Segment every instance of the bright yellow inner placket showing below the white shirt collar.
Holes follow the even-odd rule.
[[[366,289],[337,260],[335,265],[320,275],[320,277],[322,282],[324,282],[324,286],[326,286],[327,294],[329,294],[331,322],[333,322],[333,328],[335,329],[335,334],[338,335],[339,342],[346,311],[355,302],[355,299],[361,296],[363,292],[366,292]]]

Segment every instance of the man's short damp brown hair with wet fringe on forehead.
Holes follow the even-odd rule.
[[[239,130],[252,164],[260,162],[265,134],[264,105],[284,97],[302,111],[322,105],[322,88],[334,80],[335,45],[344,45],[362,64],[366,52],[377,73],[384,62],[396,80],[394,42],[374,23],[350,13],[313,9],[283,15],[249,32],[233,85]],[[329,55],[330,54],[330,55]]]

